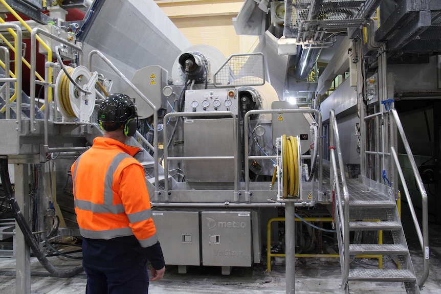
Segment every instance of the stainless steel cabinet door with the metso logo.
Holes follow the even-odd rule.
[[[215,266],[251,266],[251,212],[203,211],[202,263]]]

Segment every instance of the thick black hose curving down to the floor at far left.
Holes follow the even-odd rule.
[[[8,159],[0,159],[0,177],[2,179],[5,196],[8,199],[9,204],[12,208],[12,212],[14,214],[15,220],[18,223],[18,227],[20,227],[21,232],[23,232],[26,244],[31,248],[33,254],[35,255],[35,257],[37,257],[41,265],[46,268],[46,270],[51,274],[52,277],[56,278],[69,278],[78,273],[81,273],[83,271],[82,265],[79,265],[69,270],[59,270],[58,268],[53,266],[49,262],[48,258],[40,251],[37,240],[35,240],[34,236],[32,235],[32,231],[29,228],[25,217],[21,213],[17,200],[15,199],[15,193],[14,191],[12,191],[11,180],[9,179]]]

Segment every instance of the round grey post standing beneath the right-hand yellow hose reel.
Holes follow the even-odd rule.
[[[296,238],[295,238],[294,202],[285,203],[285,255],[286,255],[286,294],[296,292]]]

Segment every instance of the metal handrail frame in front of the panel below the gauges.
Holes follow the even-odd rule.
[[[237,118],[231,111],[206,111],[206,112],[169,112],[164,116],[164,121],[167,121],[170,117],[219,117],[230,116],[233,119],[233,138],[234,138],[234,154],[233,156],[191,156],[191,157],[168,157],[168,148],[164,146],[164,192],[165,197],[169,196],[168,191],[168,162],[169,160],[216,160],[216,159],[234,159],[234,201],[239,200],[239,168],[237,166]],[[167,124],[164,124],[163,129],[164,140],[167,137]]]

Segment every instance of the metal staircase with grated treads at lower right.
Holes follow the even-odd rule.
[[[362,185],[369,188],[365,184]],[[349,192],[349,195],[351,194]],[[389,238],[387,243],[384,239],[383,242],[378,240],[377,243],[370,244],[350,243],[349,255],[396,256],[399,260],[398,268],[382,269],[381,264],[379,269],[349,267],[348,282],[403,282],[407,293],[420,293],[395,199],[378,191],[370,191],[368,195],[371,196],[369,200],[356,200],[358,195],[350,196],[349,230],[356,233],[381,231],[384,235],[390,232],[388,235],[392,238]]]

